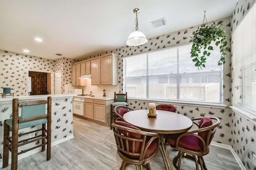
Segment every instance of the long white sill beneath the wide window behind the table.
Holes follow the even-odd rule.
[[[177,105],[186,105],[186,106],[195,106],[195,107],[210,107],[217,109],[225,109],[226,105],[224,104],[207,104],[207,103],[196,103],[196,102],[182,102],[182,101],[166,101],[166,100],[153,100],[153,99],[138,99],[138,98],[128,98],[130,101],[141,101],[141,102],[156,102],[162,104],[177,104]]]

